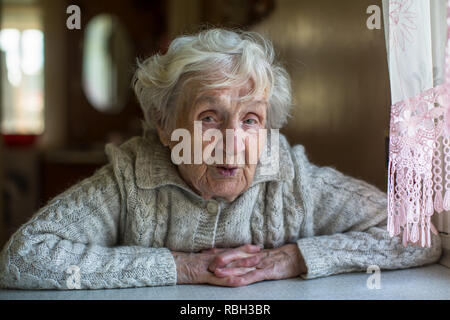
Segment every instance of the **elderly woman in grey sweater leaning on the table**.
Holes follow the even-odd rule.
[[[107,145],[109,164],[12,236],[3,287],[242,286],[439,259],[438,237],[405,248],[388,235],[385,193],[311,164],[274,130],[259,134],[281,128],[291,107],[289,77],[262,36],[181,36],[139,64],[134,90],[143,136]],[[264,171],[249,159],[269,147],[277,163]]]

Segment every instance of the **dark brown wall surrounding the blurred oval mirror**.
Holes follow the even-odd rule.
[[[111,134],[132,132],[140,134],[142,112],[130,89],[125,107],[118,113],[106,114],[92,107],[82,87],[83,35],[89,21],[98,14],[112,14],[119,18],[134,44],[132,56],[143,59],[156,53],[164,43],[166,21],[165,4],[161,0],[65,1],[81,9],[81,30],[65,31],[68,62],[65,85],[67,88],[67,144],[85,148],[94,144],[101,146]],[[130,79],[134,73],[136,60],[132,59],[127,68]],[[131,81],[130,81],[131,82]],[[81,125],[82,124],[82,125]],[[137,132],[136,132],[137,131]]]

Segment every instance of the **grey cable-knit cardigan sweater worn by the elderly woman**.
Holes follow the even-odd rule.
[[[261,174],[233,202],[205,201],[180,178],[156,135],[106,146],[109,164],[51,200],[0,254],[0,286],[81,289],[173,285],[173,251],[247,243],[296,243],[304,279],[370,265],[398,269],[436,262],[431,248],[403,247],[386,231],[387,197],[331,167],[311,164],[280,135],[279,170]]]

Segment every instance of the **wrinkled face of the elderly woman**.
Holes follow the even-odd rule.
[[[265,136],[258,135],[258,132],[266,128],[268,103],[266,95],[262,94],[243,100],[242,97],[250,90],[249,82],[236,88],[193,89],[191,95],[181,98],[176,127],[189,131],[193,161],[179,164],[178,170],[186,183],[205,200],[214,197],[233,201],[253,181],[257,159],[265,143]],[[194,129],[195,123],[197,129]],[[221,136],[205,139],[209,129],[215,129]],[[159,132],[161,137],[161,130]],[[170,135],[168,137],[170,139]],[[169,141],[164,144],[174,151],[178,143]],[[194,153],[199,151],[200,145],[201,163],[194,164]]]

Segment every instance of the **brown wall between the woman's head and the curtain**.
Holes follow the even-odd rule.
[[[381,1],[276,2],[255,31],[272,39],[292,77],[295,107],[283,132],[310,160],[386,190],[390,90],[384,31],[366,27]]]

